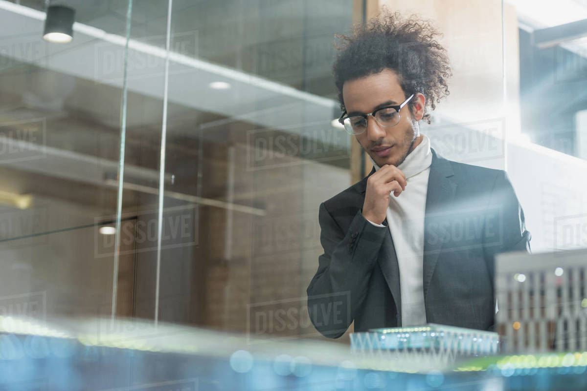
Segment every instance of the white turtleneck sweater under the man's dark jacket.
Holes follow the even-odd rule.
[[[399,197],[391,194],[387,207],[387,226],[392,234],[400,270],[402,326],[426,324],[424,308],[424,212],[432,153],[425,135],[420,144],[397,166],[408,186]],[[380,167],[369,156],[375,170]],[[367,220],[369,221],[369,220]],[[375,224],[385,227],[383,224]]]

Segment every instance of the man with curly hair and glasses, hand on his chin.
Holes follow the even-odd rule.
[[[307,293],[326,337],[353,321],[355,331],[493,330],[494,256],[529,251],[507,174],[444,159],[420,133],[418,121],[448,95],[437,35],[429,22],[384,13],[342,36],[333,66],[339,121],[374,167],[319,208],[324,253]]]

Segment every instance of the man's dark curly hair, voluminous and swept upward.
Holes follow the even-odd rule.
[[[447,80],[452,76],[446,49],[437,36],[441,33],[430,20],[417,15],[404,19],[399,12],[390,13],[386,8],[368,23],[355,25],[352,35],[336,34],[343,40],[342,44],[335,43],[339,52],[332,66],[340,109],[345,111],[342,86],[346,81],[390,68],[406,97],[416,92],[426,97],[423,119],[430,124],[428,107],[434,110],[436,103],[450,93]],[[412,112],[415,103],[410,101]]]

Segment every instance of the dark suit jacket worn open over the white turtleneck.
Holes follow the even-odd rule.
[[[504,171],[432,154],[424,216],[426,321],[492,330],[494,256],[530,251],[524,212]],[[377,227],[362,215],[369,176],[320,205],[324,253],[307,293],[311,321],[326,337],[340,337],[353,321],[355,331],[402,325],[387,221]]]

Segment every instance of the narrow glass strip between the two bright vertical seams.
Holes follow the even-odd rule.
[[[157,302],[157,257],[170,243],[160,236],[160,150],[166,97],[167,2],[133,2],[128,20],[130,40],[126,105],[126,152],[120,243],[131,260],[120,262],[117,277],[119,318],[154,320]],[[193,42],[193,41],[192,41]],[[164,181],[173,180],[171,174]],[[171,225],[171,228],[176,228]],[[183,227],[180,227],[183,228]],[[121,252],[120,256],[124,254]],[[116,331],[120,323],[116,323]]]

